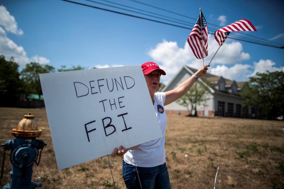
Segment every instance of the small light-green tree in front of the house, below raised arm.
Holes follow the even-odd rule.
[[[201,105],[201,102],[206,102],[206,95],[208,94],[208,88],[205,86],[197,86],[197,83],[186,92],[182,97],[180,97],[176,102],[184,107],[186,107],[188,114],[193,115],[192,111],[195,110],[194,116],[197,116],[197,105]],[[189,108],[191,107],[191,108]]]

